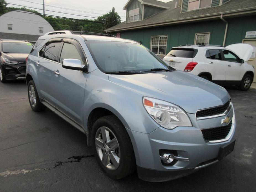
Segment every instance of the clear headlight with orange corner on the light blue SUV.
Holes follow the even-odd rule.
[[[192,126],[187,113],[177,105],[150,97],[143,97],[143,105],[148,114],[166,129]]]

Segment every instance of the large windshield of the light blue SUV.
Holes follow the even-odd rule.
[[[86,41],[86,45],[98,68],[103,72],[174,70],[146,47],[137,43]]]

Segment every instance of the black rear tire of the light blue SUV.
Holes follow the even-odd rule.
[[[33,96],[34,96],[35,100],[33,100],[32,103],[31,103],[31,99],[30,99],[30,94],[31,94],[30,87],[33,87],[33,89],[34,89]],[[43,105],[43,103],[40,102],[40,98],[37,94],[37,89],[35,87],[35,83],[33,80],[29,81],[29,84],[28,84],[28,96],[29,96],[29,104],[33,111],[43,111],[46,109],[45,105]]]

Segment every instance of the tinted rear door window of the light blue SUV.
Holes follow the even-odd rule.
[[[58,53],[61,42],[49,42],[45,46],[43,58],[58,62]]]

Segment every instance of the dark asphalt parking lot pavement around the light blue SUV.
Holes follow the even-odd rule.
[[[50,110],[31,110],[25,82],[0,83],[0,191],[255,191],[256,86],[227,87],[236,112],[236,146],[215,165],[148,183],[136,173],[112,180],[86,136]]]

